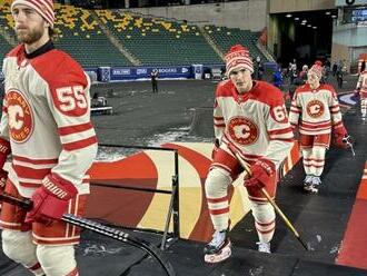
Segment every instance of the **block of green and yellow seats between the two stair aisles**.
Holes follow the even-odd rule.
[[[119,10],[96,11],[121,43],[146,66],[221,63],[197,26],[142,18]]]

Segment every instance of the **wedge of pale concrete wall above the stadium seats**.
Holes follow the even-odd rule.
[[[266,4],[267,0],[248,0],[209,4],[138,8],[127,11],[187,20],[197,24],[216,24],[261,31],[267,24]]]

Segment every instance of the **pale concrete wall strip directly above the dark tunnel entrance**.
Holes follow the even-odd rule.
[[[269,12],[291,12],[335,9],[335,0],[268,0]]]

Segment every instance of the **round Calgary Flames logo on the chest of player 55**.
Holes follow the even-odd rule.
[[[32,110],[20,91],[10,90],[7,101],[10,137],[16,142],[24,142],[33,131]]]

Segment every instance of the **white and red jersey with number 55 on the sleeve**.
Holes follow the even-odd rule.
[[[0,136],[10,140],[9,179],[31,197],[50,172],[89,193],[86,171],[97,154],[90,121],[90,81],[67,53],[51,49],[27,59],[23,46],[4,59]]]

